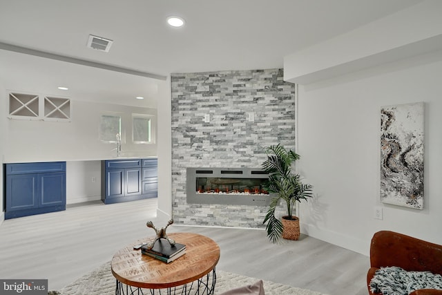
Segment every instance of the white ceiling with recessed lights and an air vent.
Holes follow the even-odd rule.
[[[290,53],[421,1],[0,0],[0,42],[162,76],[282,68]],[[170,15],[186,25],[169,27]],[[111,50],[87,48],[90,34],[112,39]],[[156,104],[158,80],[0,50],[0,81],[15,91],[147,106]]]

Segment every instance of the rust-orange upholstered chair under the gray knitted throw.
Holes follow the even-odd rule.
[[[378,231],[370,245],[370,269],[367,273],[369,284],[376,270],[381,267],[401,267],[407,272],[432,272],[442,275],[442,245],[425,242],[393,231]],[[410,295],[442,295],[442,290],[420,289]]]

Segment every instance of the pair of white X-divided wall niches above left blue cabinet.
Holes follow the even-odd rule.
[[[8,118],[70,122],[70,99],[32,93],[10,92]]]

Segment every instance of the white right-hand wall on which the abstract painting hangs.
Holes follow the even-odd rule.
[[[383,229],[442,244],[441,77],[439,51],[299,86],[299,169],[316,194],[301,205],[303,232],[366,255]],[[425,102],[423,210],[379,202],[380,109],[412,102]]]

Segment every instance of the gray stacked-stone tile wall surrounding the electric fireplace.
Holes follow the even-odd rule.
[[[295,89],[282,69],[171,75],[175,223],[263,227],[267,206],[188,204],[186,168],[260,168],[265,146],[294,149]]]

